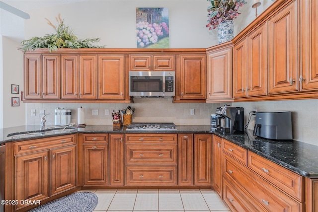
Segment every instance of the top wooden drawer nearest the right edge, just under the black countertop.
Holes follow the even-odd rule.
[[[304,202],[305,177],[250,151],[247,166],[301,203]]]

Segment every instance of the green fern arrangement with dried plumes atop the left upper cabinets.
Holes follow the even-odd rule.
[[[48,21],[48,24],[52,26],[56,34],[45,35],[44,37],[33,37],[29,40],[21,41],[22,47],[19,48],[24,50],[24,52],[28,50],[42,49],[48,48],[50,52],[57,51],[58,48],[102,48],[104,46],[95,46],[92,43],[99,42],[99,38],[86,38],[84,40],[80,40],[72,29],[68,26],[64,25],[64,19],[61,19],[61,15],[55,17],[58,26],[52,24],[52,22],[45,18]]]

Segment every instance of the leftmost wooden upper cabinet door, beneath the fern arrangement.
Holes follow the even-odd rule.
[[[41,99],[41,94],[41,55],[24,55],[24,99]]]

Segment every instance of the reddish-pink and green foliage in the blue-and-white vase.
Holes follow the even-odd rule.
[[[207,28],[215,29],[225,20],[234,20],[239,16],[239,7],[247,3],[245,0],[208,0],[211,5],[207,8]]]

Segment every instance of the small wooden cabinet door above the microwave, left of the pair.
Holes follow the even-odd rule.
[[[151,55],[130,55],[129,71],[151,71],[152,60]]]

